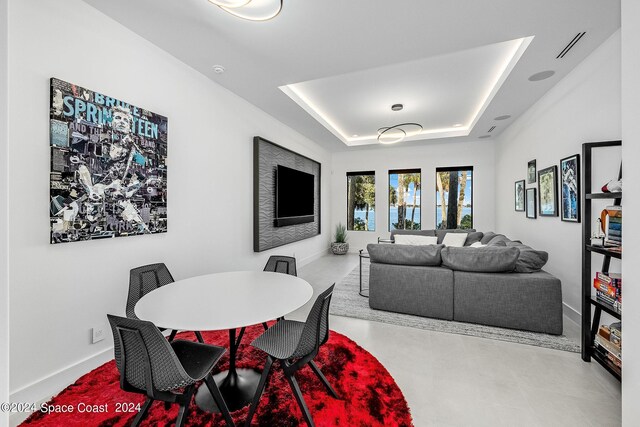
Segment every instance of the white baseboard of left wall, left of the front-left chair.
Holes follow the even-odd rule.
[[[73,365],[62,368],[57,372],[11,392],[9,401],[40,405],[60,393],[60,391],[64,390],[70,384],[73,384],[82,375],[111,359],[113,359],[113,347],[89,356],[86,359],[80,360]],[[29,413],[24,412],[13,413],[9,418],[9,425],[17,426],[29,415]]]

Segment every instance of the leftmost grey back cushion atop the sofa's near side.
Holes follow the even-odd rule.
[[[410,246],[375,243],[367,245],[371,262],[382,264],[438,266],[442,264],[441,251],[442,245]]]

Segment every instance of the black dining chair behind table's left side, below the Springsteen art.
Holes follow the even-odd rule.
[[[164,263],[143,265],[131,269],[129,272],[129,296],[127,297],[127,317],[129,319],[137,319],[135,313],[135,306],[140,298],[148,294],[149,292],[158,289],[161,286],[173,283],[173,276],[169,272]],[[163,330],[163,329],[161,329]],[[169,341],[173,341],[178,331],[171,331],[169,335]],[[194,331],[198,341],[204,342],[202,334],[199,331]]]

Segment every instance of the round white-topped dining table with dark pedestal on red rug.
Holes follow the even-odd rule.
[[[237,369],[242,334],[236,329],[284,316],[306,304],[313,288],[305,280],[266,271],[230,271],[177,280],[149,292],[135,306],[138,318],[156,326],[185,331],[229,330],[229,370],[214,376],[229,410],[251,402],[260,380],[254,369]],[[196,403],[206,411],[218,408],[207,387]]]

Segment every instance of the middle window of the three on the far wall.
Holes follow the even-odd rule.
[[[389,231],[420,230],[420,169],[389,171]]]

